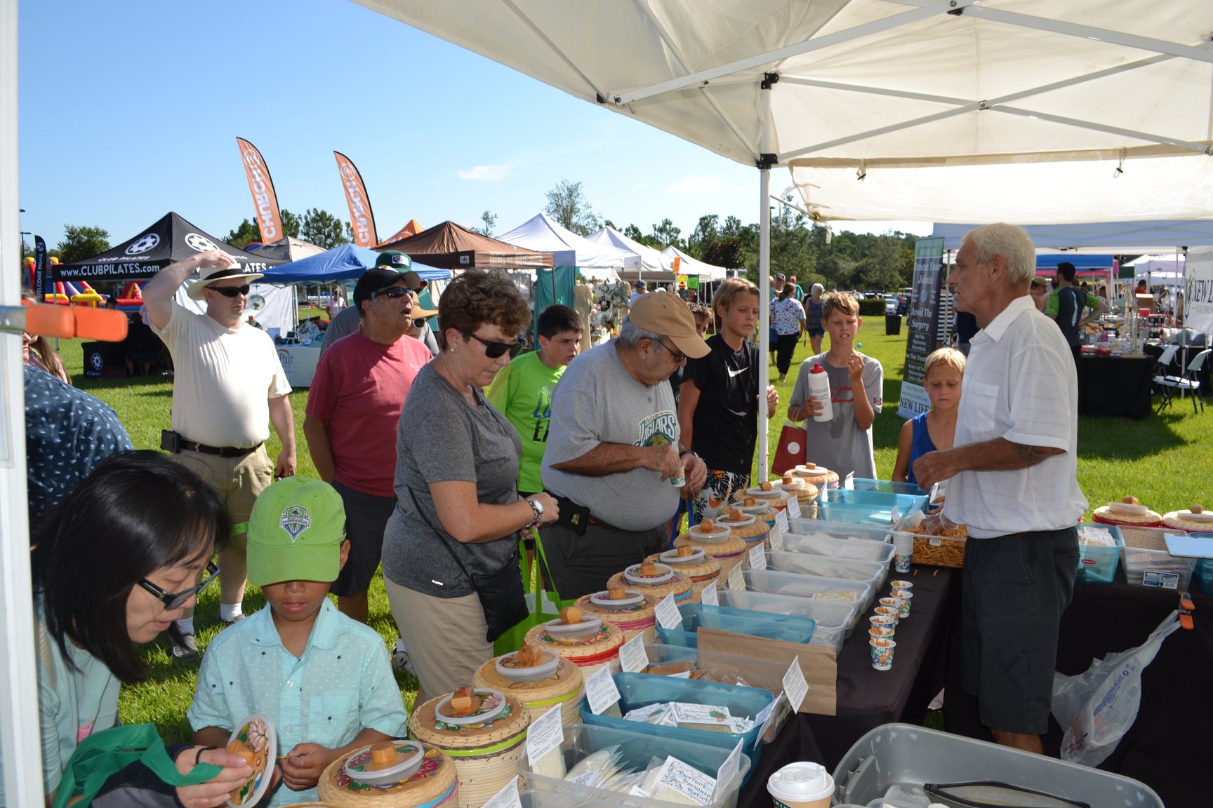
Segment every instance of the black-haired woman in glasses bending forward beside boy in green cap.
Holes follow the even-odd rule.
[[[32,566],[47,804],[76,745],[119,723],[120,686],[150,675],[135,643],[152,642],[193,606],[218,572],[211,557],[229,532],[218,495],[156,452],[97,464],[40,526]],[[199,762],[223,768],[199,785],[158,784],[167,804],[175,797],[190,807],[222,806],[252,774],[222,750],[180,745],[169,752],[182,774]]]

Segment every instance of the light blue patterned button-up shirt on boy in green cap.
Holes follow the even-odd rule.
[[[383,638],[328,598],[302,657],[283,646],[269,606],[221,631],[206,648],[189,726],[235,729],[237,721],[258,712],[278,733],[279,756],[297,744],[344,746],[365,728],[404,738],[409,722]],[[309,800],[317,800],[315,789],[281,786],[269,804]]]

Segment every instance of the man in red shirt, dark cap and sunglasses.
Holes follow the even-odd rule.
[[[360,325],[320,356],[303,434],[320,479],[341,494],[349,563],[332,585],[337,608],[366,623],[366,590],[378,568],[383,527],[395,508],[395,430],[417,371],[431,360],[405,332],[435,313],[415,304],[404,273],[368,269],[354,287]]]

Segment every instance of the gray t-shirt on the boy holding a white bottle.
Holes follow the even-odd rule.
[[[830,395],[833,403],[833,420],[816,422],[805,419],[808,432],[804,459],[837,471],[838,477],[845,477],[852,471],[860,480],[876,480],[876,455],[872,452],[872,430],[860,429],[855,423],[855,394],[850,386],[850,373],[845,367],[835,367],[826,361],[825,354],[810,356],[801,363],[801,373],[796,377],[792,390],[793,407],[802,407],[809,397],[809,371],[813,365],[820,365],[830,377]],[[864,356],[864,391],[877,413],[884,405],[884,368],[871,356]],[[779,474],[786,469],[773,469]]]

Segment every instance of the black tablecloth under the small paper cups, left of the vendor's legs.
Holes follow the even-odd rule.
[[[944,686],[952,614],[959,597],[958,569],[915,566],[910,617],[898,624],[893,669],[872,667],[867,651],[867,618],[838,655],[838,712],[833,716],[797,714],[788,718],[774,741],[763,747],[753,777],[738,802],[739,808],[769,808],[767,778],[796,761],[815,761],[831,772],[856,740],[882,724],[904,721],[922,723],[927,705]],[[889,594],[889,585],[878,597]]]

